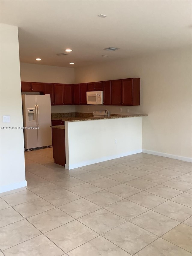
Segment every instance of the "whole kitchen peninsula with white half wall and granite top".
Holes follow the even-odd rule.
[[[63,118],[52,126],[55,163],[70,170],[141,152],[143,116]]]

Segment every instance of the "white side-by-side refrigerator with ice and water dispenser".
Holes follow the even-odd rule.
[[[50,95],[22,95],[25,150],[52,145]]]

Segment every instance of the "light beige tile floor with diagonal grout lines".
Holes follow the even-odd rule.
[[[25,152],[0,194],[0,256],[190,256],[191,163],[139,153],[66,170]]]

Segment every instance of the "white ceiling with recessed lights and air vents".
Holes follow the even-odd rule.
[[[1,1],[1,23],[19,27],[21,62],[75,68],[190,45],[191,1]]]

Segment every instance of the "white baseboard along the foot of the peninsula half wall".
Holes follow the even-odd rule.
[[[97,158],[97,159],[91,159],[91,160],[79,162],[79,163],[76,163],[76,164],[65,164],[65,169],[71,170],[71,169],[86,166],[86,165],[89,165],[89,164],[96,164],[96,163],[100,163],[100,162],[103,162],[103,161],[123,157],[123,156],[126,156],[126,155],[133,155],[133,154],[137,154],[137,153],[141,153],[141,152],[142,152],[142,149],[138,149],[138,150],[135,150],[135,151],[129,151],[129,152],[121,153],[121,154],[118,154],[118,155],[110,155],[110,156],[105,156],[105,157],[101,157],[101,158]]]

